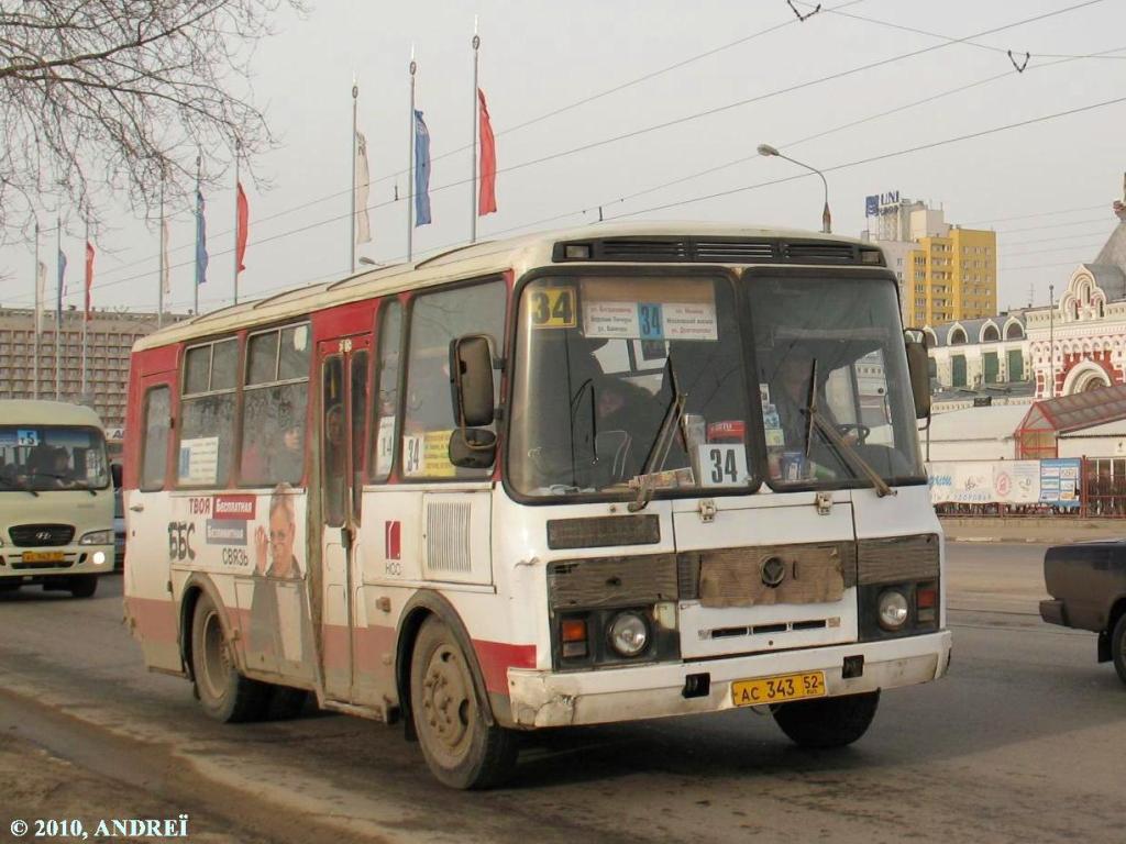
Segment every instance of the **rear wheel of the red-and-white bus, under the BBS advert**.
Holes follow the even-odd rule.
[[[191,616],[191,675],[196,697],[211,718],[224,724],[262,717],[269,686],[239,672],[215,602],[205,592]]]

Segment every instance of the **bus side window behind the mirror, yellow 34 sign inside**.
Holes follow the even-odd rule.
[[[489,476],[489,469],[457,469],[449,461],[449,437],[457,427],[449,381],[449,342],[464,334],[486,334],[493,353],[502,354],[506,296],[504,282],[498,279],[414,299],[402,438],[404,477]],[[499,381],[494,381],[498,388]]]

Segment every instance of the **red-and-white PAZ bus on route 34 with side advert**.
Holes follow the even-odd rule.
[[[598,226],[197,316],[133,352],[129,625],[216,718],[313,692],[458,788],[536,728],[848,744],[949,659],[926,385],[882,252],[804,232]]]

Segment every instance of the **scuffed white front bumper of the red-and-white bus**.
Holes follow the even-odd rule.
[[[863,672],[843,676],[846,657],[857,656],[864,657]],[[822,671],[829,697],[914,685],[945,675],[949,659],[950,631],[940,630],[888,641],[635,668],[575,673],[509,668],[508,685],[515,726],[563,727],[733,709],[733,682],[778,674]],[[856,673],[856,663],[850,661],[850,674]],[[685,697],[686,689],[699,689],[701,682],[689,676],[701,674],[707,674],[707,693]]]

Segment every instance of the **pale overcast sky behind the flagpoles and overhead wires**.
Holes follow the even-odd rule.
[[[859,235],[865,197],[897,190],[941,206],[948,223],[998,232],[1002,309],[1046,304],[1048,286],[1058,293],[1117,224],[1126,3],[824,6],[804,21],[786,0],[310,0],[304,16],[278,12],[252,61],[253,97],[279,143],[254,162],[268,189],[243,180],[250,239],[240,298],[348,272],[354,77],[373,179],[373,241],[357,254],[405,258],[412,50],[434,156],[434,222],[414,230],[414,255],[468,241],[476,19],[499,170],[499,209],[479,219],[479,240],[586,225],[600,213],[819,230],[820,179],[756,155],[769,143],[824,171],[835,233]],[[1024,72],[1008,51],[1017,64],[1030,54]],[[1052,115],[1061,116],[1038,119]],[[101,199],[93,304],[155,309],[159,227]],[[232,300],[233,174],[206,200],[200,311]],[[186,312],[195,225],[190,208],[169,213],[166,306]],[[61,243],[68,304],[78,307],[81,236],[72,225]],[[54,279],[54,235],[39,249]],[[29,306],[34,245],[0,250],[0,305]]]

